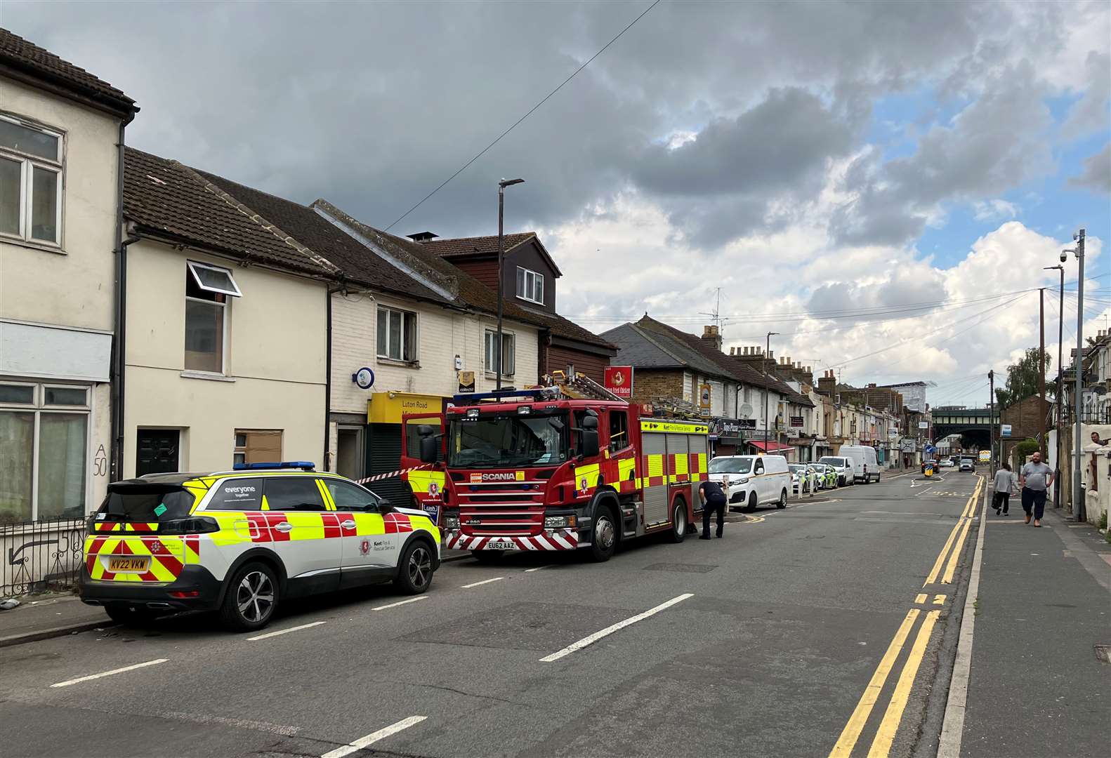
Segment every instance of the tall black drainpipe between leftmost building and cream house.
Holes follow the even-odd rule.
[[[111,411],[111,471],[109,481],[118,482],[123,477],[123,367],[127,361],[127,291],[128,291],[128,246],[139,241],[139,235],[134,232],[134,224],[123,220],[123,130],[126,124],[120,124],[120,137],[117,143],[119,152],[116,165],[116,223],[117,239],[120,241],[116,249],[116,276],[112,295],[112,354],[109,366],[110,394],[112,398]]]

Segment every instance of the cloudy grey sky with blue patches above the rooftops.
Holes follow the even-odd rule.
[[[701,333],[720,289],[729,345],[774,331],[847,382],[980,403],[1081,226],[1085,333],[1111,325],[1102,1],[662,0],[398,221],[650,4],[6,0],[0,22],[134,98],[129,143],[394,233],[494,233],[497,181],[524,178],[507,226],[541,233],[595,332]]]

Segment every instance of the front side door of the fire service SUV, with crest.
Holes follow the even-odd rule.
[[[341,587],[356,587],[393,577],[408,533],[386,532],[380,501],[357,484],[321,479],[336,505],[342,537]],[[392,514],[391,514],[392,515]]]

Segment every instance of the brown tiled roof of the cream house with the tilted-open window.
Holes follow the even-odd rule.
[[[142,228],[218,252],[310,274],[334,274],[333,266],[197,172],[134,148],[124,153],[123,213]]]

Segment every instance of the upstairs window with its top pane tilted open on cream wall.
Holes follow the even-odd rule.
[[[241,293],[227,269],[194,261],[186,272],[186,371],[222,374],[227,353],[228,297]]]

